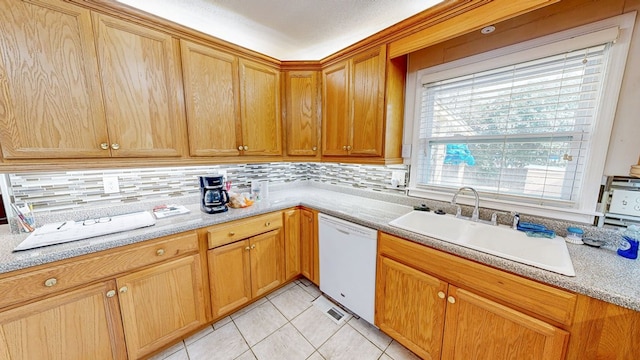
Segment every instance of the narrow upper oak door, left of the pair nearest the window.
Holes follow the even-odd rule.
[[[349,144],[349,63],[322,70],[322,155],[347,155]]]

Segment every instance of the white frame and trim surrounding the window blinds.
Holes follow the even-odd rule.
[[[412,156],[410,158],[411,176],[408,195],[433,200],[450,201],[451,190],[436,190],[418,186],[417,161],[419,148],[419,129],[421,113],[421,92],[424,83],[454,78],[466,74],[508,66],[535,58],[551,56],[563,52],[577,50],[592,45],[617,40],[610,48],[609,64],[603,89],[603,96],[598,104],[593,140],[588,150],[588,164],[580,196],[571,208],[522,203],[512,199],[496,199],[494,193],[480,193],[483,207],[518,211],[530,215],[553,217],[569,221],[593,223],[595,216],[602,215],[598,209],[599,188],[603,182],[603,172],[608,145],[613,128],[618,95],[624,76],[636,12],[626,13],[595,23],[579,26],[533,40],[506,46],[500,49],[480,53],[467,58],[420,69],[413,81],[407,81],[407,101],[405,124],[405,144],[411,136]],[[425,81],[426,80],[426,81]],[[413,118],[411,118],[413,117]],[[484,196],[483,196],[484,195]],[[472,204],[470,198],[462,198],[461,203]]]

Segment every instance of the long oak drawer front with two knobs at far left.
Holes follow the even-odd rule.
[[[0,308],[198,251],[196,232],[79,257],[0,280]]]

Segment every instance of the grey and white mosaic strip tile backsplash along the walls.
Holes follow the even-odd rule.
[[[405,165],[371,166],[337,163],[263,163],[212,166],[32,172],[9,174],[12,202],[30,203],[34,212],[80,210],[87,206],[119,205],[145,200],[170,199],[197,194],[198,175],[227,172],[233,188],[247,189],[252,181],[270,184],[311,180],[348,187],[404,193],[404,186],[391,187],[392,173]],[[105,194],[104,176],[117,176],[120,191]],[[400,183],[403,185],[403,183]]]

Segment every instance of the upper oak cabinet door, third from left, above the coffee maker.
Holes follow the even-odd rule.
[[[238,58],[180,40],[191,156],[238,156]]]

